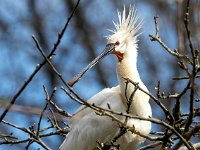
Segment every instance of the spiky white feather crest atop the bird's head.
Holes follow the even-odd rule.
[[[115,29],[108,29],[108,31],[114,34],[107,36],[107,38],[112,38],[112,36],[123,36],[126,39],[133,39],[135,42],[137,42],[136,38],[139,36],[138,30],[142,26],[142,21],[138,22],[138,16],[136,15],[135,8],[130,5],[127,16],[125,6],[123,12],[117,10],[117,13],[119,22],[116,23],[113,21]]]

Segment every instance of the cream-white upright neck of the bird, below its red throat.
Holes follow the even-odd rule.
[[[126,104],[127,104],[127,101],[129,100],[129,98],[131,97],[131,94],[135,90],[135,86],[131,83],[129,83],[127,85],[126,80],[124,78],[129,78],[130,80],[139,83],[139,86],[145,88],[145,90],[146,90],[146,87],[143,84],[143,82],[141,81],[138,70],[137,70],[137,50],[136,50],[136,48],[134,49],[134,47],[133,47],[133,49],[131,49],[130,51],[125,53],[123,60],[121,62],[117,63],[117,77],[118,77],[119,84],[120,84],[123,102]],[[138,108],[134,108],[134,107],[141,105],[141,103],[143,101],[142,98],[137,98],[137,97],[139,97],[139,94],[141,94],[141,92],[135,93],[134,98],[133,98],[134,105],[131,105],[132,109],[135,110],[135,112]],[[138,111],[140,111],[140,110],[138,110]],[[136,114],[139,115],[139,112],[136,112]]]

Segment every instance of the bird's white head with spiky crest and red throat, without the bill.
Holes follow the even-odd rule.
[[[123,12],[118,11],[119,22],[113,24],[114,30],[109,30],[113,34],[107,36],[108,44],[114,44],[113,53],[118,57],[118,60],[123,60],[123,55],[131,48],[137,47],[138,30],[141,28],[142,22],[138,22],[134,7],[129,7],[128,15],[124,7]],[[137,25],[136,25],[137,24]]]

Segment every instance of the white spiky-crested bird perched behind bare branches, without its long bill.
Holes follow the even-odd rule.
[[[119,23],[113,22],[115,30],[111,30],[113,35],[109,35],[107,40],[108,45],[115,45],[112,53],[118,58],[116,72],[119,85],[102,90],[90,98],[88,102],[107,109],[109,104],[111,110],[126,113],[126,98],[130,98],[135,86],[128,84],[126,89],[124,78],[138,82],[143,90],[148,90],[141,81],[137,70],[137,32],[141,28],[142,23],[139,22],[137,24],[138,17],[136,16],[134,7],[131,6],[127,16],[124,7],[122,13],[118,11],[118,17]],[[146,118],[150,117],[152,112],[149,104],[149,96],[137,90],[132,98],[130,114]],[[116,117],[124,122],[125,117]],[[70,122],[72,126],[71,131],[66,135],[66,139],[60,146],[60,150],[93,150],[98,145],[97,140],[101,143],[109,142],[119,132],[117,122],[112,121],[109,117],[99,116],[92,109],[85,106],[78,109],[77,113],[70,119]],[[148,121],[128,119],[127,125],[134,126],[136,131],[144,135],[148,135],[151,130],[151,123]],[[139,135],[128,131],[117,140],[117,143],[120,144],[121,150],[134,150],[144,140]]]

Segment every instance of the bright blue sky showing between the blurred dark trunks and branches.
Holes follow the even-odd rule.
[[[4,97],[8,100],[12,98],[23,82],[29,77],[35,66],[42,60],[42,57],[36,50],[35,44],[31,38],[32,34],[37,37],[37,32],[29,26],[32,20],[26,0],[8,0],[6,2],[0,1],[0,3],[0,18],[6,18],[7,23],[11,26],[7,32],[0,33],[0,97]],[[119,10],[121,10],[124,4],[123,1],[119,3]],[[81,5],[86,5],[86,3],[83,2]],[[173,76],[173,70],[170,70],[171,68],[167,65],[167,63],[168,61],[174,61],[174,59],[157,43],[151,42],[148,37],[149,34],[155,33],[153,16],[157,15],[159,11],[155,10],[154,7],[147,5],[147,3],[144,3],[143,1],[135,0],[134,5],[137,8],[138,16],[144,20],[143,28],[141,29],[143,36],[139,38],[138,70],[140,71],[141,78],[147,85],[148,89],[151,92],[155,92],[155,81],[161,80],[164,84],[166,84],[167,81]],[[173,4],[170,4],[170,7],[174,7]],[[44,33],[50,37],[48,38],[49,47],[53,46],[53,43],[56,41],[58,31],[61,30],[67,16],[69,15],[64,9],[65,7],[63,6],[62,1],[54,0],[50,2],[46,0],[43,3],[38,2],[38,11],[41,14],[47,15],[44,17],[46,23],[46,30]],[[104,36],[109,34],[106,29],[112,29],[114,27],[112,20],[117,20],[117,8],[108,0],[96,0],[91,2],[91,4],[88,5],[84,11],[86,17],[91,18],[90,24],[94,25],[98,29],[97,34],[101,40],[95,41],[95,47],[96,54],[99,54],[106,45]],[[166,17],[162,16],[162,14],[159,15],[159,27],[161,31],[160,35],[163,37],[165,43],[172,49],[176,48],[177,36],[175,27],[173,24],[170,24],[170,22],[168,22]],[[69,28],[62,39],[60,47],[56,52],[57,55],[54,56],[54,61],[59,61],[62,65],[62,69],[61,67],[59,68],[61,69],[60,71],[66,80],[69,80],[75,73],[78,73],[78,71],[87,65],[86,61],[84,61],[84,57],[82,58],[82,56],[86,56],[86,52],[88,51],[84,50],[84,47],[79,45],[79,42],[76,41],[77,34],[74,34],[75,30],[74,21],[72,19]],[[12,44],[10,43],[11,41],[13,42]],[[144,63],[144,59],[148,59],[148,57],[143,56],[145,55],[145,49],[142,49],[144,48],[144,42],[145,45],[148,45],[148,50],[151,50],[151,55],[155,57],[155,60],[152,61],[155,61],[155,63],[162,66],[158,67],[160,71],[160,74],[157,76],[158,79],[149,79],[154,77],[149,77],[146,72],[147,66]],[[62,50],[65,49],[65,47],[73,48],[73,52],[69,52],[69,54],[67,54],[67,59],[61,59],[63,55]],[[102,66],[105,67],[110,74],[112,74],[112,76],[107,77],[111,86],[118,84],[115,75],[115,62],[116,59],[113,56],[109,56],[100,62]],[[66,73],[68,66],[74,66],[75,71]],[[98,75],[95,74],[95,68],[93,68],[75,86],[76,91],[78,91],[78,93],[85,99],[88,99],[104,88],[95,82],[95,78],[98,78]],[[89,86],[88,83],[90,83]],[[28,85],[26,90],[18,98],[17,104],[22,104],[20,100],[23,100],[23,104],[27,106],[43,106],[45,103],[45,93],[42,85],[49,87],[48,75],[46,75],[44,71],[40,71],[35,76],[30,85]],[[70,100],[64,92],[59,89],[60,86],[61,85],[58,86],[58,92],[56,95],[57,99],[59,99],[59,104],[70,113],[74,113],[79,106],[74,101]],[[2,112],[2,110],[0,110],[0,112]],[[158,112],[154,111],[153,113],[156,114]],[[13,118],[12,115],[13,113],[9,113],[6,119],[21,126],[27,126],[29,124],[24,121],[27,119],[27,116],[16,113]],[[38,117],[34,117],[33,120],[37,121]],[[45,122],[46,121],[44,120],[44,125],[46,125]],[[18,136],[24,136],[20,132],[15,133]],[[55,145],[57,146],[58,144]],[[35,145],[35,147],[37,146]],[[16,147],[13,146],[12,148],[15,149]],[[5,147],[1,146],[0,149],[5,149]]]

